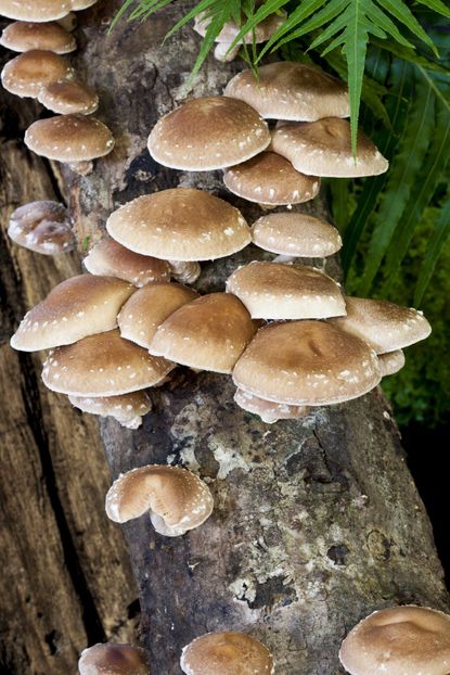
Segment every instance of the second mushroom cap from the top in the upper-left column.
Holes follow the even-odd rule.
[[[37,24],[15,21],[4,28],[0,44],[15,52],[43,49],[55,54],[67,54],[77,49],[74,36],[56,22]]]

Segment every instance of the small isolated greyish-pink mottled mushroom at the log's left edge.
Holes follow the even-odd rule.
[[[11,215],[8,234],[20,246],[43,255],[67,253],[75,246],[66,207],[49,200],[16,208]]]

